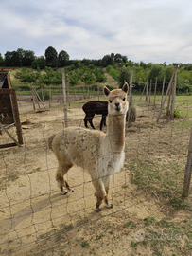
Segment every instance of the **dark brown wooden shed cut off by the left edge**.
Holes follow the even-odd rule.
[[[12,89],[9,71],[18,68],[0,67],[0,138],[3,130],[13,140],[13,143],[1,144],[0,148],[20,146],[23,144],[22,128],[19,118],[19,110],[15,89]],[[10,126],[16,127],[17,139],[9,134]],[[1,141],[1,139],[0,139]]]

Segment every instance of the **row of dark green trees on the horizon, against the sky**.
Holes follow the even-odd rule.
[[[96,66],[106,67],[109,64],[116,63],[118,65],[128,63],[127,56],[123,56],[119,53],[108,54],[105,55],[102,59],[99,60],[70,60],[69,54],[61,50],[59,53],[57,50],[49,46],[44,51],[44,56],[36,57],[35,53],[31,50],[24,50],[22,48],[18,48],[14,51],[7,51],[5,53],[4,58],[0,53],[0,65],[1,66],[11,66],[11,67],[32,67],[34,69],[44,69],[45,66],[48,67],[64,67],[69,66],[71,64],[94,64]]]

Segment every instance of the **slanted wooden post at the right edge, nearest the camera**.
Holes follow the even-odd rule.
[[[184,174],[183,193],[182,193],[183,198],[187,197],[189,194],[191,174],[192,174],[192,127],[191,127],[188,156],[187,156],[187,162],[186,162],[185,174]]]

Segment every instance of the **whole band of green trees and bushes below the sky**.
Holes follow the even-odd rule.
[[[36,57],[33,51],[23,50],[22,48],[16,51],[7,51],[3,58],[0,54],[1,66],[12,67],[32,67],[40,71],[45,70],[45,74],[40,72],[33,73],[25,68],[18,71],[17,78],[22,82],[43,82],[44,84],[59,84],[61,83],[61,72],[58,67],[65,67],[66,79],[71,85],[76,85],[80,81],[85,84],[93,82],[106,82],[106,77],[103,70],[106,70],[113,79],[122,84],[130,81],[131,69],[133,70],[134,84],[144,84],[152,80],[155,82],[156,77],[158,83],[162,84],[164,75],[166,75],[166,83],[170,81],[174,65],[178,65],[177,89],[184,91],[192,91],[192,64],[145,64],[128,60],[127,56],[119,53],[107,54],[102,59],[98,60],[70,60],[69,54],[61,50],[57,52],[55,48],[49,46],[44,51],[44,56]]]

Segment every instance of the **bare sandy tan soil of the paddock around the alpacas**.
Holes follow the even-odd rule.
[[[137,190],[127,165],[111,177],[109,197],[113,209],[102,205],[101,212],[94,210],[96,198],[90,176],[78,167],[66,175],[74,193],[61,195],[55,181],[57,159],[46,143],[47,137],[64,126],[63,109],[56,107],[60,99],[54,99],[51,108],[47,101],[45,109],[41,106],[34,111],[30,96],[18,98],[24,145],[0,150],[0,253],[152,255],[151,247],[131,247],[135,231],[142,229],[141,221],[148,216],[183,221],[190,216],[188,211],[171,211],[155,193]],[[152,159],[163,157],[169,143],[165,137],[171,133],[166,120],[156,124],[157,111],[152,107],[138,106],[136,110],[136,122],[126,132],[126,163],[129,155],[145,156],[149,151]],[[84,127],[81,107],[69,107],[67,115],[68,125]],[[97,130],[99,122],[100,117],[96,116]],[[16,137],[14,127],[9,132]],[[185,160],[188,138],[189,134],[178,134],[177,140],[171,141],[171,155],[177,155],[180,146],[180,158]],[[0,140],[1,144],[11,142],[5,133]],[[161,144],[158,152],[152,151],[156,143]],[[124,224],[129,221],[137,229],[125,229]],[[172,255],[171,248],[166,252]]]

